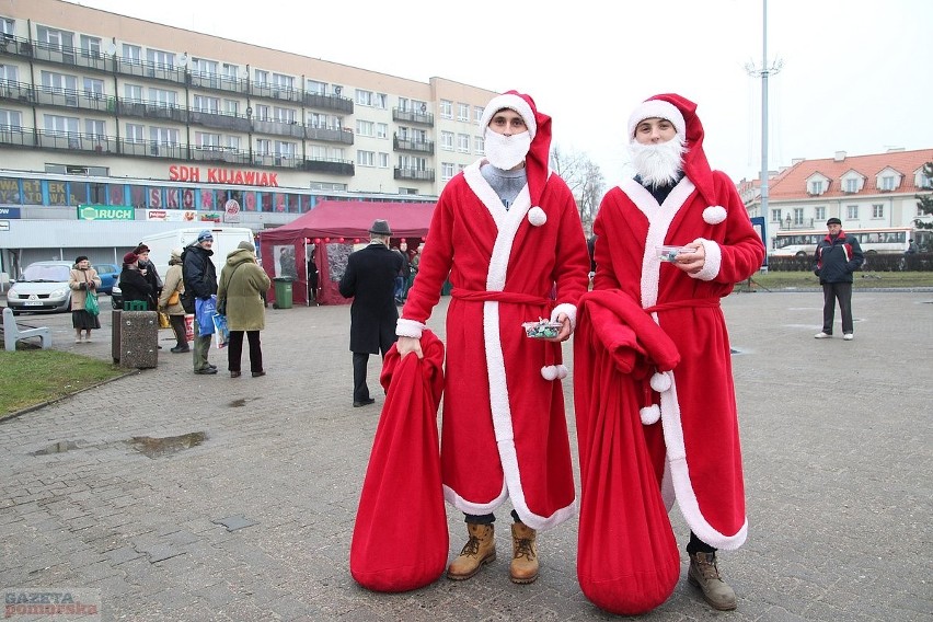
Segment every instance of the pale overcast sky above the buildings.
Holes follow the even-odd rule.
[[[656,93],[699,104],[713,168],[761,170],[761,0],[389,2],[69,0],[427,82],[531,94],[554,143],[609,185],[629,175],[631,110]],[[449,49],[472,48],[469,54]],[[771,170],[794,158],[933,149],[933,3],[771,0]]]

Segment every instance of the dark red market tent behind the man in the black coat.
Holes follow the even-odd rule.
[[[346,304],[337,284],[347,256],[369,241],[377,218],[389,221],[392,243],[406,241],[413,247],[424,241],[434,203],[379,203],[325,200],[296,220],[258,234],[263,267],[270,278],[291,277],[292,302],[308,304],[307,251],[313,244],[318,265],[318,302]],[[275,298],[275,288],[269,300]]]

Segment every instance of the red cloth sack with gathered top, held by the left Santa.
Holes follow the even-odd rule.
[[[387,353],[385,404],[376,429],[350,543],[350,574],[376,591],[407,591],[440,578],[449,535],[440,480],[437,407],[444,344],[422,336],[424,359]]]

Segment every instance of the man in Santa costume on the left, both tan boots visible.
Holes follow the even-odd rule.
[[[548,166],[551,117],[509,91],[481,125],[486,157],[438,199],[396,347],[422,356],[449,278],[441,470],[469,540],[447,575],[466,579],[495,561],[493,511],[510,499],[510,578],[528,584],[538,578],[537,531],[576,512],[561,342],[574,330],[589,256],[573,194]],[[527,337],[522,323],[539,319],[560,322],[558,334]]]

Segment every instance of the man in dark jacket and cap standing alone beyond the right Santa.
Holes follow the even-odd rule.
[[[852,341],[852,273],[865,261],[859,240],[842,231],[842,221],[830,218],[826,221],[829,232],[820,240],[814,253],[814,274],[822,286],[822,331],[814,335],[818,339],[832,336],[836,301],[842,315],[842,338]]]

